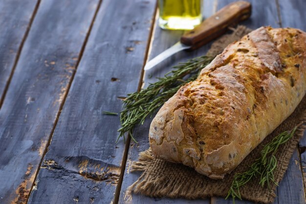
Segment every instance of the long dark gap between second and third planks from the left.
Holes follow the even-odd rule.
[[[39,1],[41,1],[41,0],[39,0]],[[67,98],[68,92],[69,92],[69,90],[70,90],[71,84],[72,84],[72,82],[73,82],[75,73],[76,73],[77,68],[78,68],[78,66],[79,66],[79,64],[80,64],[80,61],[81,61],[81,59],[82,59],[82,57],[83,57],[83,53],[84,53],[84,50],[85,50],[85,48],[86,48],[86,44],[87,44],[87,41],[88,41],[88,38],[89,38],[89,35],[90,35],[90,32],[91,32],[91,29],[92,29],[92,27],[93,27],[93,24],[94,24],[94,22],[95,22],[96,16],[97,16],[97,14],[98,14],[98,12],[99,12],[99,9],[100,9],[100,7],[101,7],[101,4],[102,4],[102,0],[99,0],[99,1],[98,1],[98,5],[97,5],[97,8],[96,8],[96,10],[95,10],[95,13],[94,13],[94,15],[93,15],[93,17],[92,17],[91,23],[90,23],[90,25],[89,25],[88,31],[87,31],[87,33],[86,33],[85,40],[84,40],[83,45],[82,45],[82,47],[81,47],[81,50],[80,50],[80,52],[79,52],[78,60],[77,60],[76,65],[75,65],[75,70],[74,70],[74,72],[73,72],[72,75],[71,75],[70,81],[69,81],[68,86],[67,86],[67,90],[66,90],[66,92],[65,92],[65,94],[64,94],[64,98],[63,98],[62,103],[61,103],[61,105],[60,105],[59,111],[58,111],[58,113],[56,114],[55,122],[54,122],[54,125],[53,125],[53,127],[52,127],[51,133],[50,133],[50,135],[49,135],[47,144],[46,144],[46,146],[45,146],[44,153],[43,153],[43,155],[42,155],[41,161],[39,162],[39,165],[38,165],[38,168],[37,168],[35,177],[34,177],[34,181],[33,181],[33,183],[32,183],[31,189],[30,189],[29,196],[28,196],[28,198],[27,198],[27,200],[26,200],[26,204],[28,203],[28,200],[29,200],[30,195],[31,195],[31,193],[32,193],[33,186],[34,186],[34,184],[35,184],[37,175],[38,175],[38,173],[39,173],[39,171],[40,171],[42,162],[43,162],[43,160],[44,160],[44,156],[45,156],[45,154],[47,153],[48,147],[49,147],[49,145],[50,145],[50,143],[51,143],[51,140],[52,140],[52,136],[53,136],[55,127],[56,127],[57,122],[58,122],[58,120],[59,120],[59,117],[60,117],[60,115],[61,115],[61,113],[62,113],[62,110],[63,110],[64,104],[65,104],[65,102],[66,102],[66,98]],[[35,8],[35,9],[36,9],[36,8]],[[36,12],[36,11],[37,11],[37,10],[35,10],[35,12]],[[32,23],[32,22],[31,22],[31,23]],[[22,43],[23,43],[23,42],[22,42]],[[17,64],[17,63],[16,63],[16,64]],[[1,105],[1,104],[0,104],[0,105]]]

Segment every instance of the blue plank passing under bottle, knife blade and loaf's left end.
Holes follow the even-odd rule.
[[[214,1],[212,0],[204,0],[204,18],[207,18],[213,14],[214,11]],[[158,17],[158,14],[156,15]],[[158,27],[157,18],[155,20],[155,27],[154,27],[154,35],[153,35],[153,42],[151,45],[151,52],[149,55],[149,59],[152,59],[165,49],[169,48],[170,46],[174,45],[177,41],[179,41],[180,36],[183,34],[183,31],[170,31],[170,30],[162,30]],[[173,55],[172,57],[166,59],[155,68],[150,69],[149,71],[145,72],[144,75],[144,86],[148,86],[149,83],[155,82],[157,79],[156,77],[162,77],[165,73],[171,70],[171,68],[179,62],[185,62],[188,59],[194,58],[196,56],[201,56],[206,53],[210,45],[205,45],[200,49],[193,51],[193,52],[179,52]],[[210,200],[185,200],[185,199],[169,199],[169,198],[150,198],[142,195],[135,195],[130,194],[127,191],[127,188],[136,181],[139,176],[140,172],[131,173],[131,163],[137,160],[138,155],[140,152],[149,148],[149,127],[153,118],[148,118],[144,125],[139,126],[135,129],[134,136],[138,142],[135,144],[131,142],[126,170],[123,178],[123,183],[121,187],[121,193],[119,197],[120,204],[153,204],[156,201],[163,204],[209,204]]]

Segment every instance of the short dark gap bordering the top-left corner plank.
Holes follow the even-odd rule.
[[[4,90],[3,90],[3,94],[1,95],[1,98],[0,98],[0,109],[1,109],[1,107],[2,107],[2,104],[3,104],[4,98],[5,98],[6,92],[7,92],[7,90],[8,90],[8,87],[9,87],[9,85],[10,85],[10,83],[11,83],[12,78],[13,78],[13,75],[14,75],[14,72],[15,72],[15,68],[17,67],[17,63],[18,63],[18,61],[19,61],[19,57],[20,57],[20,54],[21,54],[21,51],[22,51],[23,44],[24,44],[24,42],[25,42],[25,40],[26,40],[26,38],[27,38],[27,36],[28,36],[28,34],[29,34],[29,32],[30,32],[32,23],[33,23],[33,21],[34,21],[34,18],[35,18],[35,16],[36,16],[36,13],[37,13],[37,11],[38,11],[39,4],[40,4],[40,3],[41,3],[41,0],[37,0],[36,5],[35,5],[35,8],[34,8],[34,11],[33,11],[32,16],[31,16],[31,18],[30,18],[29,24],[28,24],[28,26],[27,26],[27,28],[26,28],[26,30],[25,30],[25,33],[24,33],[24,35],[23,35],[23,37],[22,37],[21,44],[20,44],[20,46],[19,46],[19,48],[18,48],[18,50],[17,50],[17,54],[16,54],[16,58],[15,58],[15,60],[14,60],[14,64],[13,64],[12,71],[11,71],[9,77],[8,77],[8,80],[7,80],[6,85],[5,85],[5,87],[4,87]]]

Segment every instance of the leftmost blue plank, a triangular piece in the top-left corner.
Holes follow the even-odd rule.
[[[0,1],[0,107],[35,16],[38,0]]]

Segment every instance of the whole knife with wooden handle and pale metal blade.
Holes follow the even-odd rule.
[[[145,65],[145,70],[181,50],[195,50],[226,32],[229,26],[235,26],[251,16],[251,3],[236,1],[221,8],[216,14],[207,18],[193,30],[186,32],[172,47],[166,49]]]

